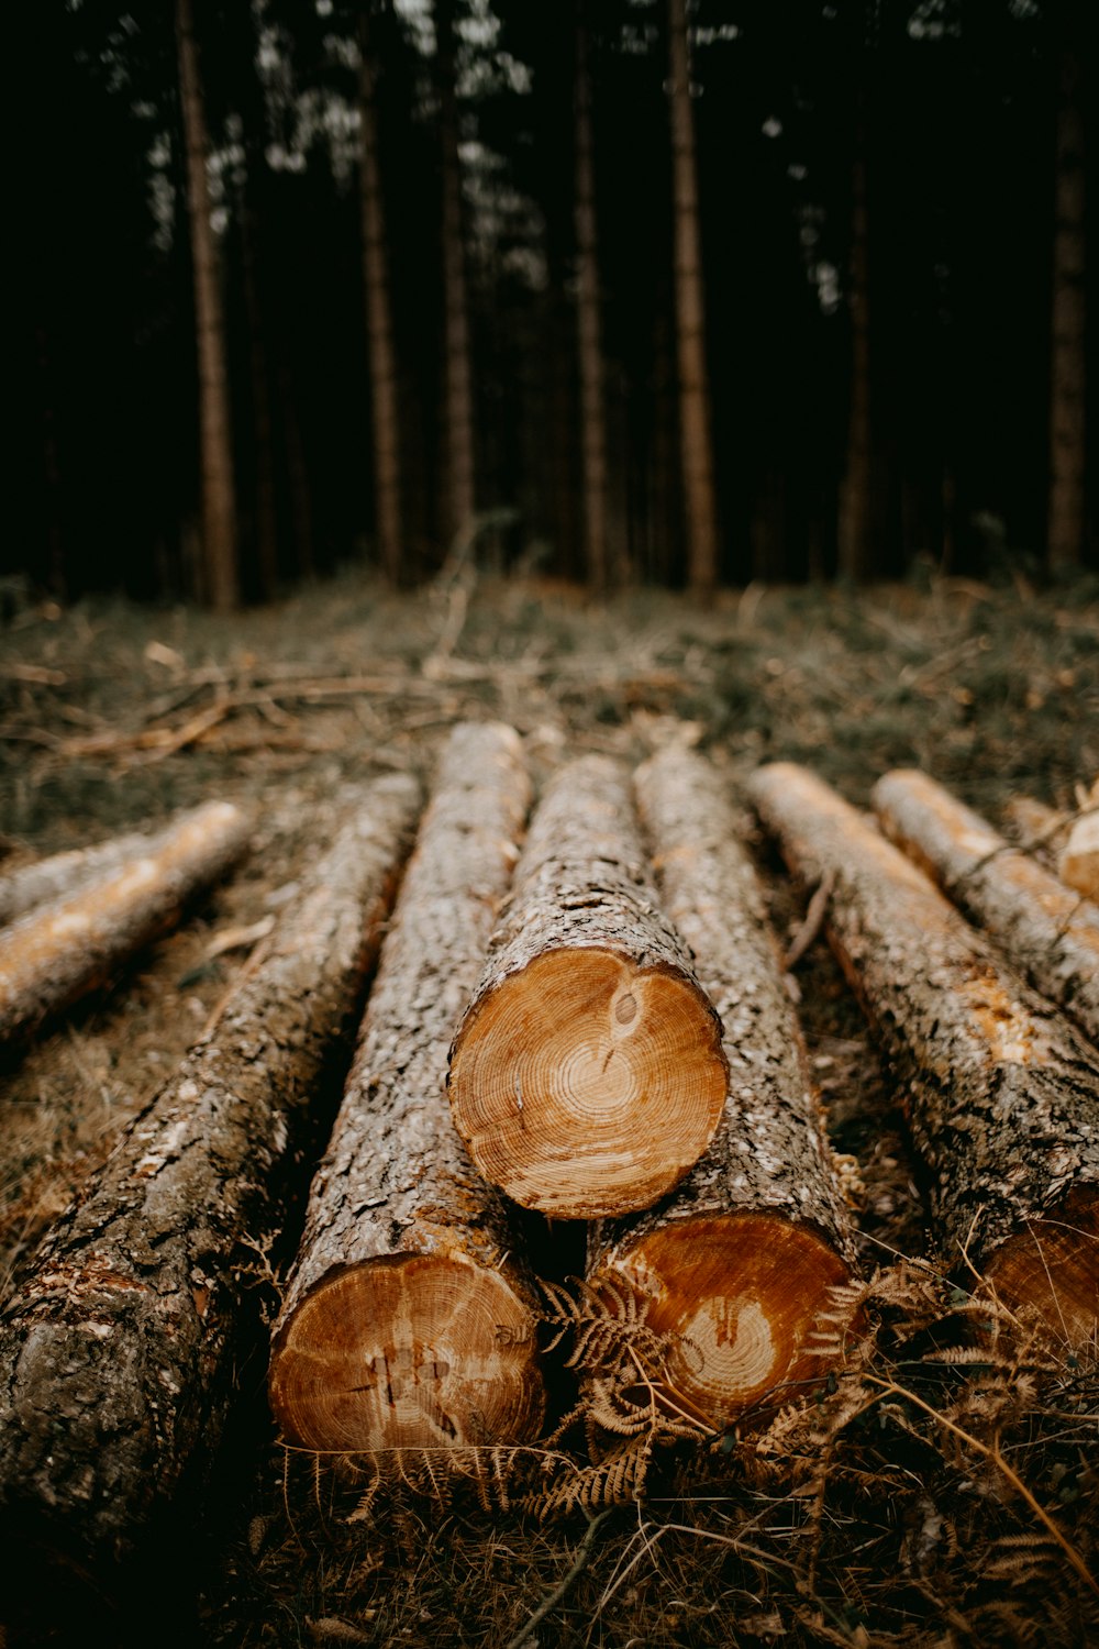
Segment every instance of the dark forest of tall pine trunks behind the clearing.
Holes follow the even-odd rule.
[[[1096,566],[1086,5],[21,31],[8,577],[231,608],[455,554],[699,594]]]

